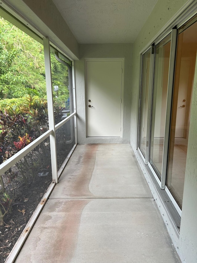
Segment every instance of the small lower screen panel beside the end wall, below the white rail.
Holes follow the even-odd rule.
[[[55,132],[55,137],[57,150],[57,166],[59,169],[75,144],[74,118],[71,118],[59,129],[57,129]]]

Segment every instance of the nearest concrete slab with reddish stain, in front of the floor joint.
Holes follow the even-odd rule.
[[[48,200],[15,262],[180,261],[155,201],[138,198]]]

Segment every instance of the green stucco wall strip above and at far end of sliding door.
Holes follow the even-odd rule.
[[[131,91],[131,146],[136,149],[136,121],[139,92],[140,51],[154,41],[155,35],[183,7],[187,0],[158,0],[146,23],[133,43],[133,71]],[[191,2],[191,1],[189,1]]]

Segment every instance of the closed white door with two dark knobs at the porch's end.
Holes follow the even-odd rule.
[[[88,137],[120,137],[122,60],[86,61]]]

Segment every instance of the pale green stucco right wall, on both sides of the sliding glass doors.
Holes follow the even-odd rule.
[[[158,0],[152,13],[133,44],[133,71],[131,90],[131,146],[136,149],[137,113],[139,96],[140,52],[154,41],[155,36],[176,13],[191,1]],[[183,193],[183,208],[178,252],[184,263],[197,262],[197,76],[192,100],[191,126],[188,141],[187,167]]]

